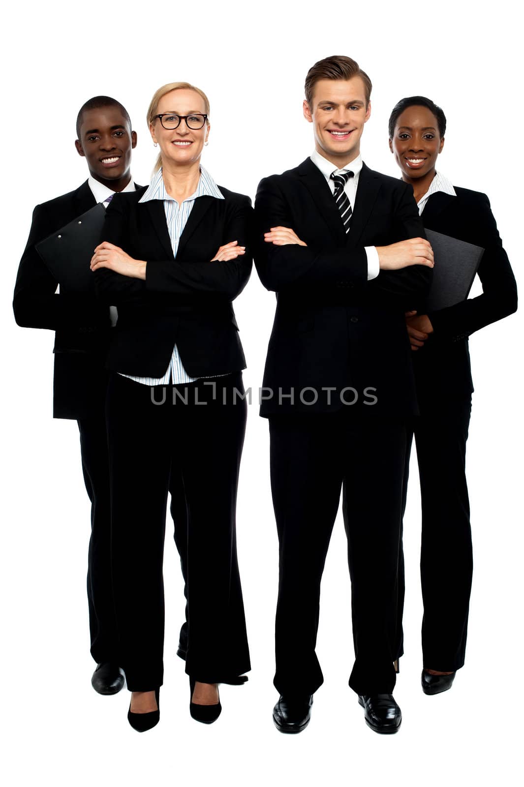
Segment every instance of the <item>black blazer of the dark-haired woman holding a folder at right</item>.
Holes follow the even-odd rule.
[[[489,199],[478,191],[454,187],[456,197],[437,192],[423,209],[428,230],[482,246],[478,267],[482,295],[430,312],[434,333],[413,355],[420,404],[463,400],[473,391],[468,336],[517,309],[517,285],[504,251]]]

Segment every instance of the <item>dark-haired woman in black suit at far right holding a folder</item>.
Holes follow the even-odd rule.
[[[389,148],[402,179],[413,187],[424,227],[485,249],[478,268],[482,295],[446,309],[406,315],[420,412],[414,433],[422,502],[421,679],[426,694],[451,688],[466,648],[473,571],[465,472],[473,392],[468,337],[517,309],[515,277],[488,198],[454,187],[437,172],[445,128],[442,109],[423,96],[403,98],[389,118]],[[409,437],[411,446],[413,434]],[[406,485],[408,463],[409,449]],[[406,486],[404,508],[405,496]],[[403,601],[401,560],[399,620]]]

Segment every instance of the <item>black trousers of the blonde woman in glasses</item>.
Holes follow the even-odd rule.
[[[235,389],[243,393],[240,373],[153,388],[120,375],[109,380],[113,589],[131,691],[150,691],[163,680],[162,563],[173,460],[185,504],[178,498],[172,510],[186,510],[186,525],[175,529],[186,580],[186,672],[214,683],[249,671],[235,536],[246,405]]]

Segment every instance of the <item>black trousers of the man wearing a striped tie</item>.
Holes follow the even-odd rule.
[[[390,693],[406,442],[401,421],[348,412],[271,416],[271,490],[279,533],[275,687],[323,683],[317,659],[320,581],[344,486],[357,693]]]

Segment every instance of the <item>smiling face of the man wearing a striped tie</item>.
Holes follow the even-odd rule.
[[[315,148],[338,168],[360,153],[360,137],[371,114],[360,76],[319,79],[311,105],[304,101],[304,117],[313,124]]]

